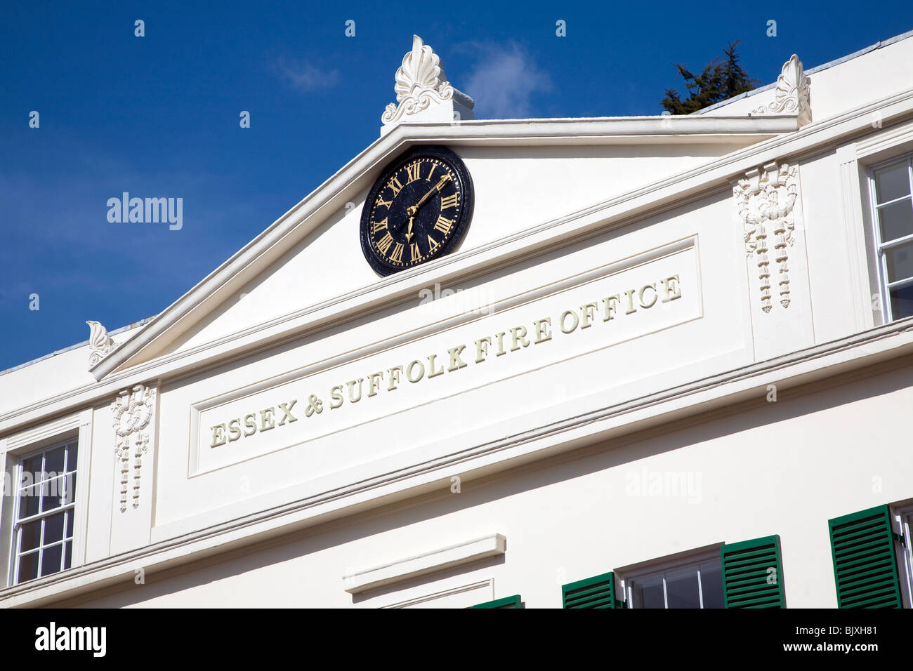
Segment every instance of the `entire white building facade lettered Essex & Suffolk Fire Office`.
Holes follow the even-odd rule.
[[[416,37],[338,173],[0,374],[0,604],[910,607],[910,63],[488,121]]]

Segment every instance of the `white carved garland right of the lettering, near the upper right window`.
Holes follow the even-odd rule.
[[[799,168],[776,163],[746,173],[733,187],[736,210],[744,228],[745,251],[755,257],[761,279],[761,309],[771,311],[771,270],[768,237],[773,236],[774,261],[779,265],[777,285],[780,304],[790,307],[790,278],[787,248],[795,230],[793,205],[799,194]]]

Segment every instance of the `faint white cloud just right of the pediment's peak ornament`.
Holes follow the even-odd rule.
[[[506,44],[470,43],[479,61],[465,83],[456,84],[476,101],[477,119],[524,119],[530,116],[530,99],[551,90],[549,75],[536,64],[529,50]]]

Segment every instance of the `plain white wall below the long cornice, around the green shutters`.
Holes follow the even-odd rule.
[[[496,598],[560,608],[561,583],[711,543],[779,534],[788,607],[835,607],[827,519],[909,498],[913,453],[897,417],[909,368],[781,397],[637,442],[603,444],[502,477],[464,480],[409,505],[331,523],[274,547],[79,602],[191,607],[377,607],[491,579]],[[691,474],[685,496],[633,496],[643,469]],[[879,478],[875,480],[874,478]],[[503,562],[352,597],[347,569],[395,561],[483,533],[507,536]]]

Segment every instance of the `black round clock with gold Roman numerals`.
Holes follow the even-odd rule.
[[[466,165],[444,147],[419,147],[391,163],[362,210],[362,251],[380,275],[450,252],[472,218]]]

